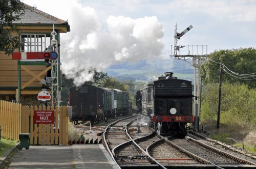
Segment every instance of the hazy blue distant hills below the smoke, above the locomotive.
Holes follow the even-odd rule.
[[[145,60],[136,63],[124,62],[113,65],[105,69],[104,72],[108,73],[109,76],[118,78],[120,81],[133,80],[135,82],[146,82],[163,75],[164,72],[174,72],[174,76],[178,78],[190,81],[194,80],[194,69],[191,65],[184,61],[174,60],[168,68],[168,62],[170,61],[158,61],[157,65],[148,64]]]

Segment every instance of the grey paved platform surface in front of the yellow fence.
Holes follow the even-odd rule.
[[[17,150],[9,168],[118,168],[101,144],[30,146]]]

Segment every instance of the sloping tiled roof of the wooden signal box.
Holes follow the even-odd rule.
[[[24,15],[20,16],[19,20],[13,21],[13,24],[62,24],[67,25],[67,30],[70,31],[68,21],[56,18],[27,4],[24,6]]]

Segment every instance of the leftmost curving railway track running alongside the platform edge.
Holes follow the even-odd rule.
[[[142,117],[141,117],[142,118]],[[153,158],[149,158],[147,156],[147,153],[137,145],[137,143],[134,141],[134,139],[129,134],[129,127],[135,127],[134,123],[137,123],[137,117],[136,119],[131,120],[120,120],[120,122],[112,123],[110,126],[115,126],[117,128],[122,127],[125,123],[125,133],[122,133],[122,139],[107,139],[106,137],[109,135],[111,130],[108,130],[108,126],[106,128],[106,131],[104,132],[103,137],[103,145],[107,150],[109,150],[109,153],[111,154],[112,158],[116,161],[116,164],[119,166],[119,168],[130,168],[130,167],[142,167],[147,166],[148,168],[159,168],[161,166],[158,161],[156,161]],[[126,138],[124,138],[124,135]],[[148,135],[148,134],[147,134]],[[125,140],[128,139],[128,141],[125,142]],[[118,145],[119,144],[119,145]],[[112,146],[117,145],[117,146]],[[114,148],[113,148],[114,147]],[[161,166],[162,168],[165,168],[164,166]]]

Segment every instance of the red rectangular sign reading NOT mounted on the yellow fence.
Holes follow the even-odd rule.
[[[54,124],[54,111],[34,110],[34,124]]]

